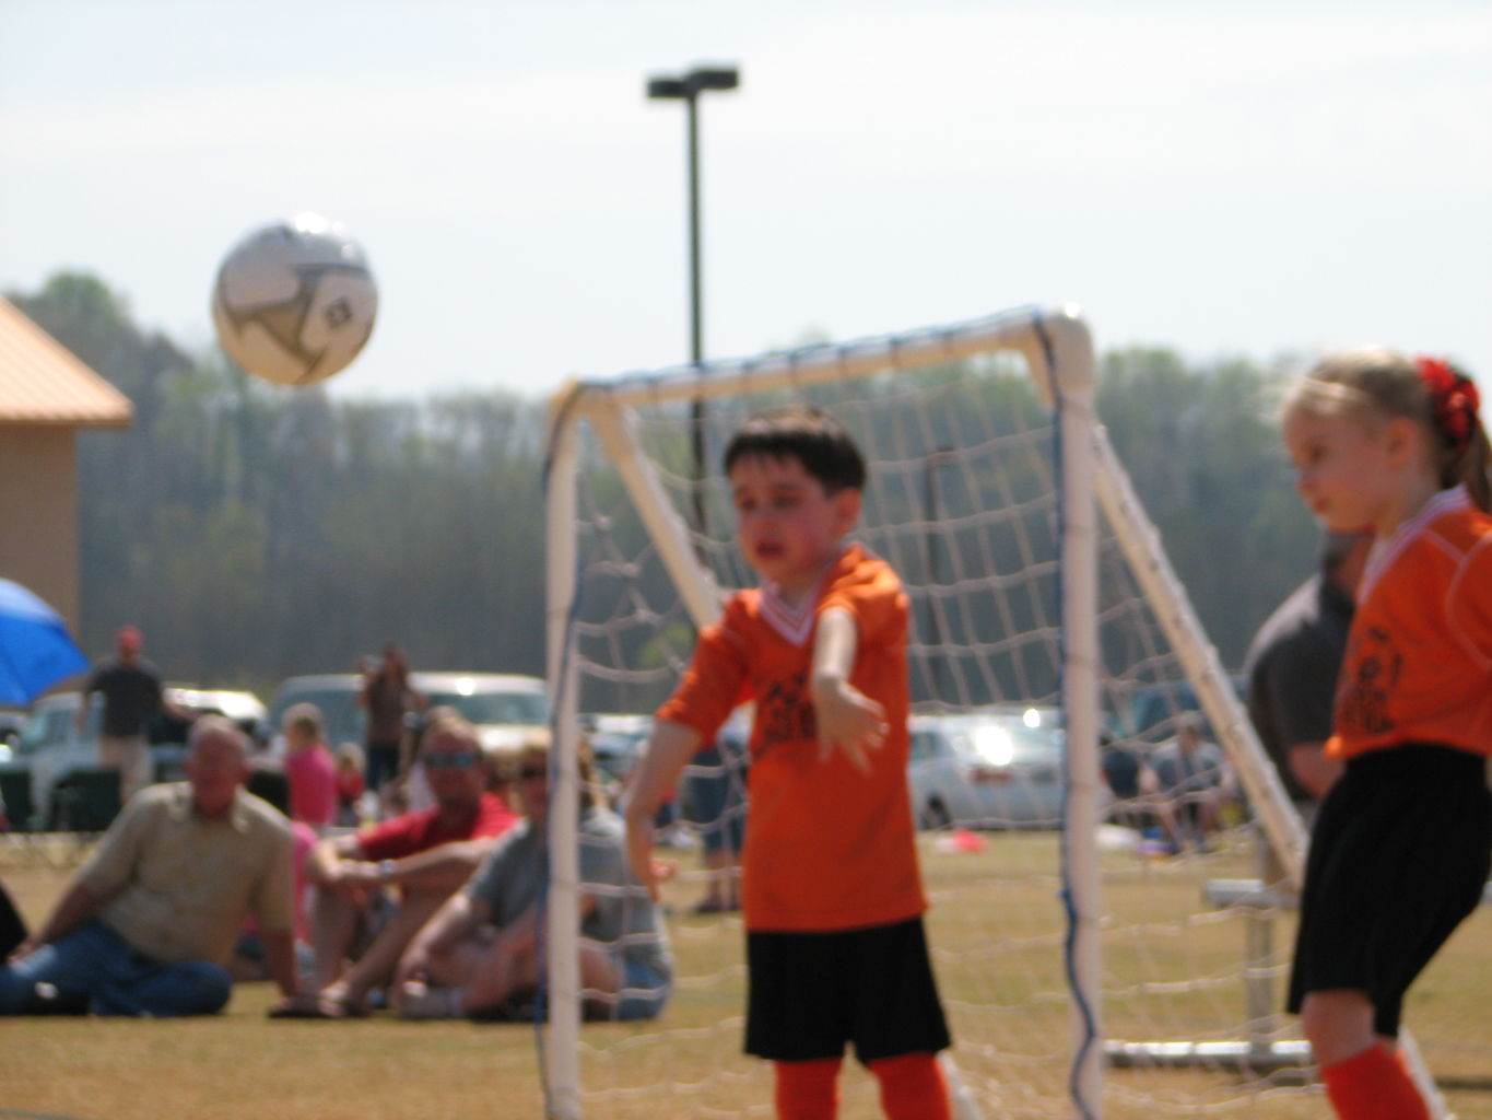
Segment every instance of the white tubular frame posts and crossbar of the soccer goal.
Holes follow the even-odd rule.
[[[1070,1096],[1085,1120],[1103,1114],[1106,1038],[1101,1021],[1098,763],[1098,509],[1119,541],[1128,569],[1192,681],[1204,712],[1244,781],[1259,826],[1291,886],[1304,866],[1306,833],[1270,765],[1243,706],[1228,687],[1214,648],[1176,578],[1159,535],[1147,520],[1094,412],[1095,351],[1076,308],[1021,309],[968,323],[883,336],[837,346],[815,346],[752,360],[679,367],[616,381],[573,382],[551,402],[546,445],[548,679],[554,700],[548,896],[549,1024],[543,1050],[546,1110],[551,1117],[580,1117],[579,986],[579,679],[570,656],[577,606],[579,429],[589,426],[616,467],[628,497],[659,551],[664,567],[697,626],[715,621],[722,591],[697,563],[689,530],[645,469],[630,411],[636,406],[703,402],[806,387],[837,379],[895,373],[992,351],[1015,351],[1053,408],[1059,461],[1061,548],[1061,696],[1067,727],[1067,823],[1062,874],[1070,914],[1068,972],[1073,992]],[[1438,1102],[1413,1042],[1404,1039],[1416,1080]],[[1440,1114],[1444,1114],[1443,1104]]]

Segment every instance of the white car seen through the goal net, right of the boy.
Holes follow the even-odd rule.
[[[912,717],[907,784],[918,827],[1056,829],[1065,735],[1055,708]]]

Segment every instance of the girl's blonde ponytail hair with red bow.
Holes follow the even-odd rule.
[[[1286,394],[1285,415],[1298,409],[1368,421],[1407,417],[1428,436],[1441,490],[1465,485],[1479,508],[1492,511],[1492,448],[1477,390],[1455,366],[1383,346],[1329,354]]]

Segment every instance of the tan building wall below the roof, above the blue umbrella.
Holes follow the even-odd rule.
[[[0,424],[0,575],[78,633],[78,429]]]

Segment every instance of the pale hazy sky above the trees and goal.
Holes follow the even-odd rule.
[[[545,397],[1079,305],[1100,349],[1383,342],[1492,384],[1483,0],[0,0],[0,291],[98,275],[212,346],[313,211],[379,282],[349,399]],[[295,391],[295,390],[285,390]]]

